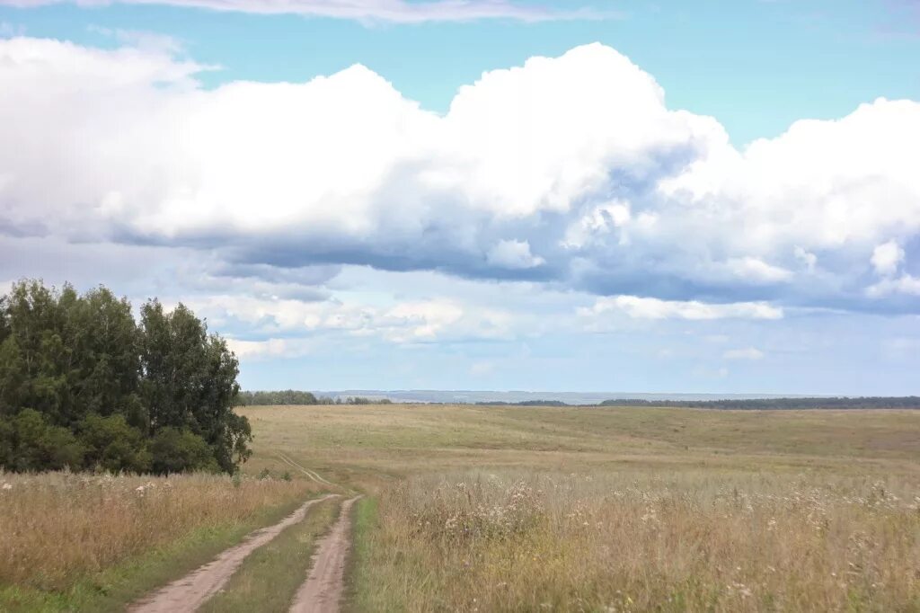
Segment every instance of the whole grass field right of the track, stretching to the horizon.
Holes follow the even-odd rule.
[[[352,610],[920,610],[920,412],[242,412],[373,494]]]

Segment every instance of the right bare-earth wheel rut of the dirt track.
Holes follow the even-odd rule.
[[[291,613],[338,613],[351,547],[351,504],[358,498],[342,503],[339,520],[316,548],[313,568],[294,596]]]

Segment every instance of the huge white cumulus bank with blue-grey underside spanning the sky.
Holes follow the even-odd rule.
[[[916,102],[738,150],[599,44],[490,71],[443,115],[361,65],[204,89],[208,68],[164,44],[0,40],[0,232],[527,279],[674,318],[914,294],[864,275],[920,232]]]

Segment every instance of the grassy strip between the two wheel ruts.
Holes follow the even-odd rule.
[[[335,521],[340,505],[340,498],[316,503],[301,522],[253,551],[201,613],[287,611],[309,573],[316,541]]]

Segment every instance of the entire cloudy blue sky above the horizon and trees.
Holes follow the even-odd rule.
[[[920,394],[916,0],[0,0],[0,288],[249,389]]]

